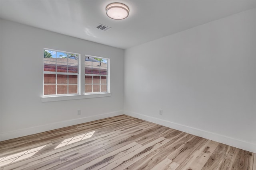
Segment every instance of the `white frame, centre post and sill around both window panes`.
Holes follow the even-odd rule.
[[[49,51],[56,51],[56,52],[61,52],[61,53],[71,53],[71,54],[76,54],[78,55],[78,94],[56,94],[56,95],[44,95],[44,73],[47,73],[47,71],[44,71],[43,68],[43,87],[42,87],[42,97],[41,97],[41,102],[55,102],[55,101],[64,101],[64,100],[78,100],[78,99],[86,99],[86,98],[99,98],[99,97],[108,97],[111,96],[110,93],[110,59],[105,58],[105,57],[96,57],[92,55],[81,55],[79,53],[73,53],[73,52],[67,52],[67,51],[60,51],[60,50],[55,50],[55,49],[48,49],[48,48],[43,48],[43,50],[49,50]],[[96,57],[96,58],[102,58],[102,59],[107,59],[108,60],[108,65],[107,65],[107,92],[92,92],[92,93],[85,93],[85,57]],[[83,62],[81,62],[83,61]],[[42,62],[44,65],[44,61]],[[43,66],[44,67],[44,66]],[[83,70],[83,71],[82,71]],[[56,72],[54,72],[56,74]],[[57,72],[58,74],[65,74],[66,72]],[[74,75],[74,74],[72,74]],[[56,82],[57,83],[57,82]]]

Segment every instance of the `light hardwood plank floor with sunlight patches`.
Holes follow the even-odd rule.
[[[13,169],[256,170],[256,155],[120,115],[0,142]]]

